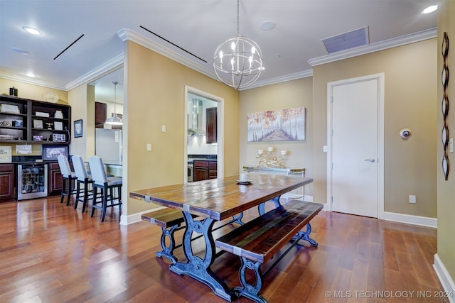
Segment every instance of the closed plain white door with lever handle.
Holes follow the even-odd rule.
[[[329,85],[332,210],[377,218],[380,77]]]

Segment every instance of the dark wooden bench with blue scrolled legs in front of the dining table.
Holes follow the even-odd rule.
[[[267,273],[282,260],[298,241],[309,241],[311,246],[318,243],[309,238],[311,225],[309,221],[323,209],[323,205],[312,202],[290,200],[277,209],[268,211],[262,216],[247,222],[221,236],[215,246],[238,255],[242,260],[239,270],[240,287],[235,287],[235,296],[244,296],[255,302],[267,302],[259,294],[262,282]],[[301,231],[306,226],[305,231]],[[262,273],[260,266],[270,260],[283,246],[291,242],[291,246]],[[247,269],[255,272],[255,283],[249,284],[246,279]]]

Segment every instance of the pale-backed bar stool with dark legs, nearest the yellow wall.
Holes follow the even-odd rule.
[[[122,177],[107,177],[105,165],[103,165],[102,159],[96,155],[92,155],[88,162],[92,173],[94,197],[90,216],[93,216],[95,209],[101,209],[101,221],[103,222],[105,221],[107,207],[118,205],[119,210],[122,210]],[[97,197],[97,189],[101,191],[101,201],[95,199]],[[117,189],[117,197],[114,197],[113,189]],[[117,200],[117,203],[114,203],[114,200]],[[109,205],[107,205],[108,201],[110,201]]]

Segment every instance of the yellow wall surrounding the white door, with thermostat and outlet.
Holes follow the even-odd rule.
[[[392,213],[437,217],[437,39],[319,65],[314,82],[314,201],[326,202],[327,83],[385,73],[385,202]],[[403,141],[399,132],[410,128]],[[409,195],[417,204],[409,203]]]

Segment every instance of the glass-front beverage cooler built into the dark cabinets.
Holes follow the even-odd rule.
[[[30,163],[17,166],[17,199],[33,199],[48,195],[48,165]]]

